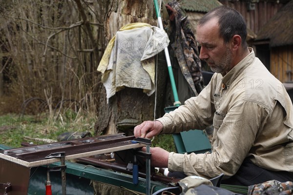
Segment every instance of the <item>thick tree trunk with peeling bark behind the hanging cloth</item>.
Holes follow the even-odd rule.
[[[152,0],[112,0],[105,19],[105,37],[109,41],[124,25],[144,22],[157,26]],[[167,63],[162,52],[158,55],[157,90],[148,97],[142,89],[125,88],[106,103],[105,88],[100,85],[98,119],[95,134],[125,132],[133,135],[133,128],[144,120],[153,120],[164,113]]]

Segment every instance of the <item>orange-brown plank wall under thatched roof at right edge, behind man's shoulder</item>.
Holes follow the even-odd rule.
[[[293,45],[271,48],[270,72],[281,82],[293,82]]]

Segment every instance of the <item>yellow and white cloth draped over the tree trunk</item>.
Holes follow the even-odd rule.
[[[167,33],[146,23],[123,26],[110,40],[98,66],[108,99],[125,87],[155,91],[154,56],[169,44]]]

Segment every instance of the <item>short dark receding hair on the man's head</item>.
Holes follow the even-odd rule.
[[[242,39],[242,48],[247,47],[246,22],[239,12],[226,6],[217,7],[203,16],[199,20],[198,26],[204,25],[212,18],[218,18],[220,37],[224,39],[225,43],[228,43],[234,35],[239,35]]]

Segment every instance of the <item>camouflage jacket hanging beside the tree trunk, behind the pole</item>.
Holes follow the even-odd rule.
[[[179,2],[173,0],[166,7],[170,20],[171,46],[185,79],[197,96],[203,89],[204,79],[194,34],[186,12],[180,7]]]

